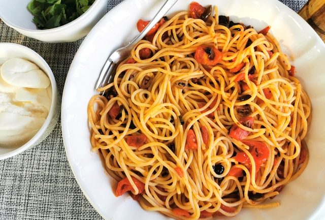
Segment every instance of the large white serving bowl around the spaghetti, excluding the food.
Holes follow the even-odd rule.
[[[167,14],[188,9],[191,1],[178,0]],[[306,137],[309,162],[306,170],[290,182],[273,200],[273,208],[244,208],[237,216],[215,220],[324,220],[325,213],[325,45],[297,13],[277,0],[198,0],[203,6],[217,5],[220,15],[257,30],[271,25],[291,64],[296,66],[312,103],[313,119]],[[105,170],[101,155],[91,152],[87,119],[89,99],[107,57],[132,40],[138,19],[149,20],[161,0],[125,0],[112,9],[82,42],[70,66],[62,96],[62,134],[67,158],[81,190],[106,220],[172,220],[154,211],[145,211],[131,196],[114,195],[117,182]],[[80,98],[82,97],[82,99]],[[208,219],[208,218],[206,218]],[[210,218],[212,219],[212,218]]]

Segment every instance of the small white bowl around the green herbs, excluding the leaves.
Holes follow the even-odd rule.
[[[0,1],[0,18],[20,34],[49,43],[73,42],[86,36],[105,15],[108,0],[96,0],[80,17],[68,24],[40,30],[32,19],[27,5],[31,0]]]

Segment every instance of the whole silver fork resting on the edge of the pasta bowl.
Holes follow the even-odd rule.
[[[149,30],[173,7],[178,0],[167,0],[160,8],[151,22],[142,30],[142,32],[133,39],[128,45],[115,50],[106,60],[100,76],[95,84],[95,91],[104,96],[105,91],[98,91],[98,88],[104,87],[113,82],[115,69],[120,61],[129,56],[132,48],[149,32]]]

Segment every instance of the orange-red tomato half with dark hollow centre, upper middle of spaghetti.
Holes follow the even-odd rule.
[[[195,51],[194,58],[199,64],[215,66],[221,61],[223,53],[213,46],[201,45]]]

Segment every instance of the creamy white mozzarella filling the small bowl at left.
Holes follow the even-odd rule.
[[[32,62],[11,58],[0,68],[0,145],[21,145],[42,127],[49,113],[52,88]]]

